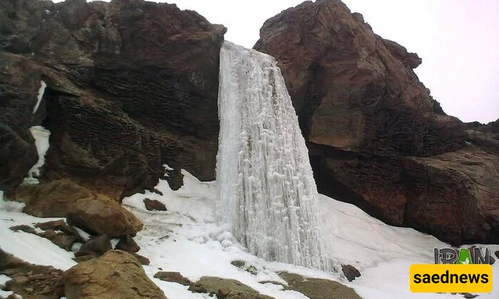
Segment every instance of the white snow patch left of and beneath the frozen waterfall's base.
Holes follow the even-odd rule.
[[[273,280],[285,283],[277,271],[299,272],[304,275],[339,279],[339,275],[325,273],[286,263],[268,262],[253,256],[232,236],[230,231],[217,224],[215,206],[217,186],[215,182],[200,182],[191,174],[182,170],[184,185],[177,191],[161,180],[155,189],[163,196],[153,192],[134,194],[123,199],[135,216],[143,221],[144,229],[135,237],[141,247],[140,255],[150,259],[150,265],[144,266],[145,272],[163,288],[168,298],[208,298],[205,295],[191,293],[187,286],[168,283],[154,274],[162,271],[178,271],[192,281],[202,276],[217,276],[240,280],[249,287],[275,298],[306,298],[292,290],[271,283],[259,281]],[[144,198],[163,202],[168,211],[147,211]],[[251,274],[231,264],[232,261],[246,261],[257,269]]]

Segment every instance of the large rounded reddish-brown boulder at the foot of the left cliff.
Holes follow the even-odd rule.
[[[90,234],[135,236],[143,227],[130,211],[103,195],[79,199],[68,206],[68,220]]]

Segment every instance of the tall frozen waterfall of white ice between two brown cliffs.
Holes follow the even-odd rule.
[[[274,58],[225,41],[218,105],[219,221],[261,258],[327,270],[308,150]]]

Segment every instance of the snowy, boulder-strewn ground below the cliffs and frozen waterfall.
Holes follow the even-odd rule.
[[[351,204],[321,196],[321,224],[334,271],[252,256],[215,222],[216,183],[183,171],[175,191],[165,180],[123,205],[143,226],[134,237],[88,234],[61,218],[21,213],[0,202],[0,295],[23,298],[422,298],[408,288],[408,267],[432,263],[448,244],[387,226]],[[163,209],[148,209],[155,201]],[[56,237],[54,237],[56,236]],[[478,245],[480,246],[480,245]],[[481,247],[481,246],[480,246]],[[346,248],[348,248],[346,250]],[[493,251],[499,246],[490,246]],[[11,256],[9,253],[15,253]],[[499,254],[499,252],[498,252]],[[142,265],[140,265],[142,264]],[[494,263],[495,268],[499,266]],[[388,283],[389,282],[389,283]],[[495,298],[495,292],[480,298]],[[423,294],[423,298],[463,298]]]

